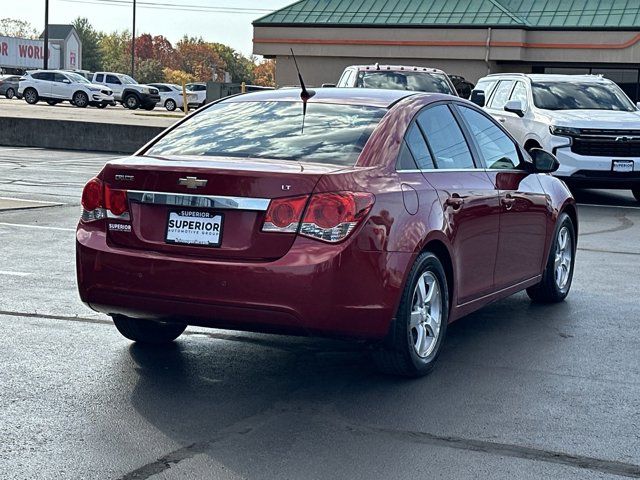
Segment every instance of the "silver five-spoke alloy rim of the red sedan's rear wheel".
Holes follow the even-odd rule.
[[[413,349],[421,358],[433,353],[442,326],[442,288],[432,272],[424,272],[413,292],[409,328]]]

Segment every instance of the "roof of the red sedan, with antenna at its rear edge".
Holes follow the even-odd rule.
[[[313,88],[315,94],[309,103],[342,103],[388,108],[403,98],[423,94],[411,90],[381,90],[375,88]],[[300,88],[264,90],[229,97],[228,102],[297,102],[300,101]]]

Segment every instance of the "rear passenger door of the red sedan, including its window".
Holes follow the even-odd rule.
[[[462,305],[493,291],[498,250],[500,199],[474,159],[449,103],[426,107],[417,124],[426,139],[432,168],[425,179],[436,189],[444,209],[444,228],[453,247],[455,301]]]

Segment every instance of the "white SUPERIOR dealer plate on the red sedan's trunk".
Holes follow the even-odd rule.
[[[192,210],[169,212],[167,243],[219,247],[222,214]]]

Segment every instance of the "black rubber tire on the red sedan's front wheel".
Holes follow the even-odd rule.
[[[569,235],[567,245],[570,246],[571,258],[567,260],[562,254],[559,254],[561,249],[560,235],[563,229]],[[573,271],[576,261],[576,229],[573,225],[571,217],[566,213],[561,213],[556,223],[556,228],[553,232],[553,239],[551,241],[551,248],[549,249],[549,258],[547,259],[547,265],[542,274],[542,280],[537,285],[527,288],[527,295],[534,302],[539,303],[556,303],[563,301],[569,294],[571,289],[571,282],[573,281]],[[560,255],[561,264],[557,265],[557,256]],[[556,270],[560,269],[563,272],[567,270],[566,280],[560,281],[556,276]],[[565,277],[562,277],[565,278]]]

